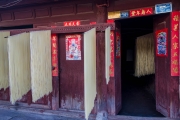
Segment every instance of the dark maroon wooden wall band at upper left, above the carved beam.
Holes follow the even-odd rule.
[[[2,9],[0,11],[2,17],[2,20],[0,20],[0,26],[49,24],[73,20],[88,20],[91,22],[96,21],[96,17],[94,17],[96,16],[95,9],[94,0],[71,0],[52,2],[44,5],[34,4],[33,6]],[[85,24],[90,24],[90,22]]]

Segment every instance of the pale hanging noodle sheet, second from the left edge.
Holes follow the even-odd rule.
[[[8,37],[8,56],[10,101],[14,104],[31,88],[29,33]]]

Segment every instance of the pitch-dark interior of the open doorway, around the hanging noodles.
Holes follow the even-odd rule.
[[[121,30],[122,109],[119,115],[163,117],[156,111],[155,75],[135,77],[136,38],[153,33],[153,16],[116,21]]]

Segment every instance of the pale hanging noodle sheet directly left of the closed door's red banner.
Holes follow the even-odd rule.
[[[36,102],[52,92],[51,31],[30,32],[31,89]]]

